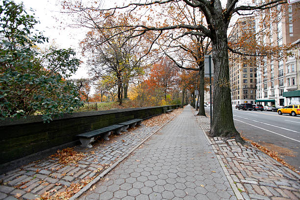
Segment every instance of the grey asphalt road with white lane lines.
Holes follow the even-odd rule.
[[[209,114],[209,107],[205,110]],[[278,151],[282,159],[300,171],[300,116],[234,108],[232,113],[234,125],[244,137]]]

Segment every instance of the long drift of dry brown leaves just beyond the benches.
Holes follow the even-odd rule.
[[[173,110],[171,113],[165,113],[165,114],[152,117],[149,120],[145,120],[143,124],[150,127],[163,125],[164,123],[168,122],[175,116],[179,115],[182,112],[182,110],[183,108],[178,108]]]

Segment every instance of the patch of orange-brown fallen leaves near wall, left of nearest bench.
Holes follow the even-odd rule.
[[[51,158],[58,158],[58,162],[63,165],[69,163],[77,163],[85,155],[81,152],[75,151],[73,148],[66,148],[63,150],[57,150],[57,153],[50,155]]]

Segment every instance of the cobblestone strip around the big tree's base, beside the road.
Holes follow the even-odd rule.
[[[204,117],[201,127],[209,128]],[[299,200],[300,175],[254,147],[245,147],[234,139],[210,138],[217,158],[229,182],[245,200]],[[222,165],[222,164],[221,164]]]

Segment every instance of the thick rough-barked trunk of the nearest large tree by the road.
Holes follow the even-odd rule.
[[[235,137],[237,141],[243,141],[235,129],[232,116],[229,64],[227,51],[227,26],[222,17],[213,16],[216,22],[215,34],[212,39],[212,55],[214,62],[214,92],[213,92],[213,116],[209,136]]]

